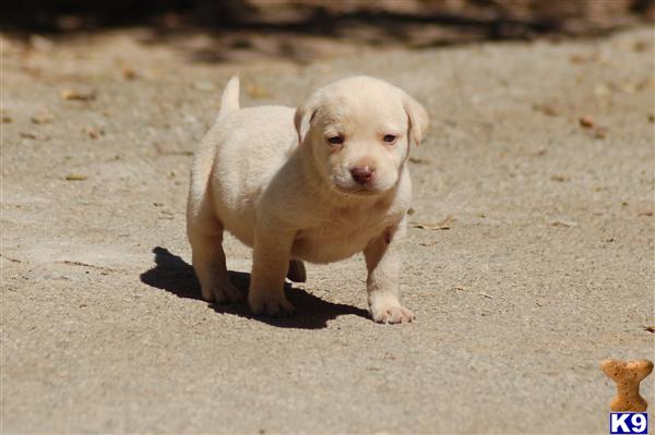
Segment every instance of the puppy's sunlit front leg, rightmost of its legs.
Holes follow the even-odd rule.
[[[364,250],[368,268],[367,291],[369,310],[379,323],[412,322],[414,314],[398,301],[398,239],[405,232],[405,220],[396,228],[388,228],[371,240]]]

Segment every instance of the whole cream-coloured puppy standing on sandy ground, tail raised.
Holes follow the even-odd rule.
[[[398,301],[398,241],[412,196],[407,156],[427,124],[416,100],[372,77],[334,82],[298,109],[240,109],[233,77],[191,173],[187,229],[203,298],[242,299],[225,265],[227,230],[253,247],[255,314],[294,312],[284,280],[305,281],[302,261],[364,252],[372,318],[412,322]]]

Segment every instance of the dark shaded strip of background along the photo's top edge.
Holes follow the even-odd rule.
[[[590,35],[655,16],[654,0],[25,0],[3,9],[0,23],[19,33],[150,25],[163,32],[270,29],[340,37],[365,25],[412,39],[416,24],[439,27],[424,44]]]

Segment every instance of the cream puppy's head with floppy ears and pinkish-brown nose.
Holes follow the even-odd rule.
[[[404,90],[356,76],[317,90],[298,108],[295,123],[320,177],[340,192],[370,195],[396,184],[428,113]]]

